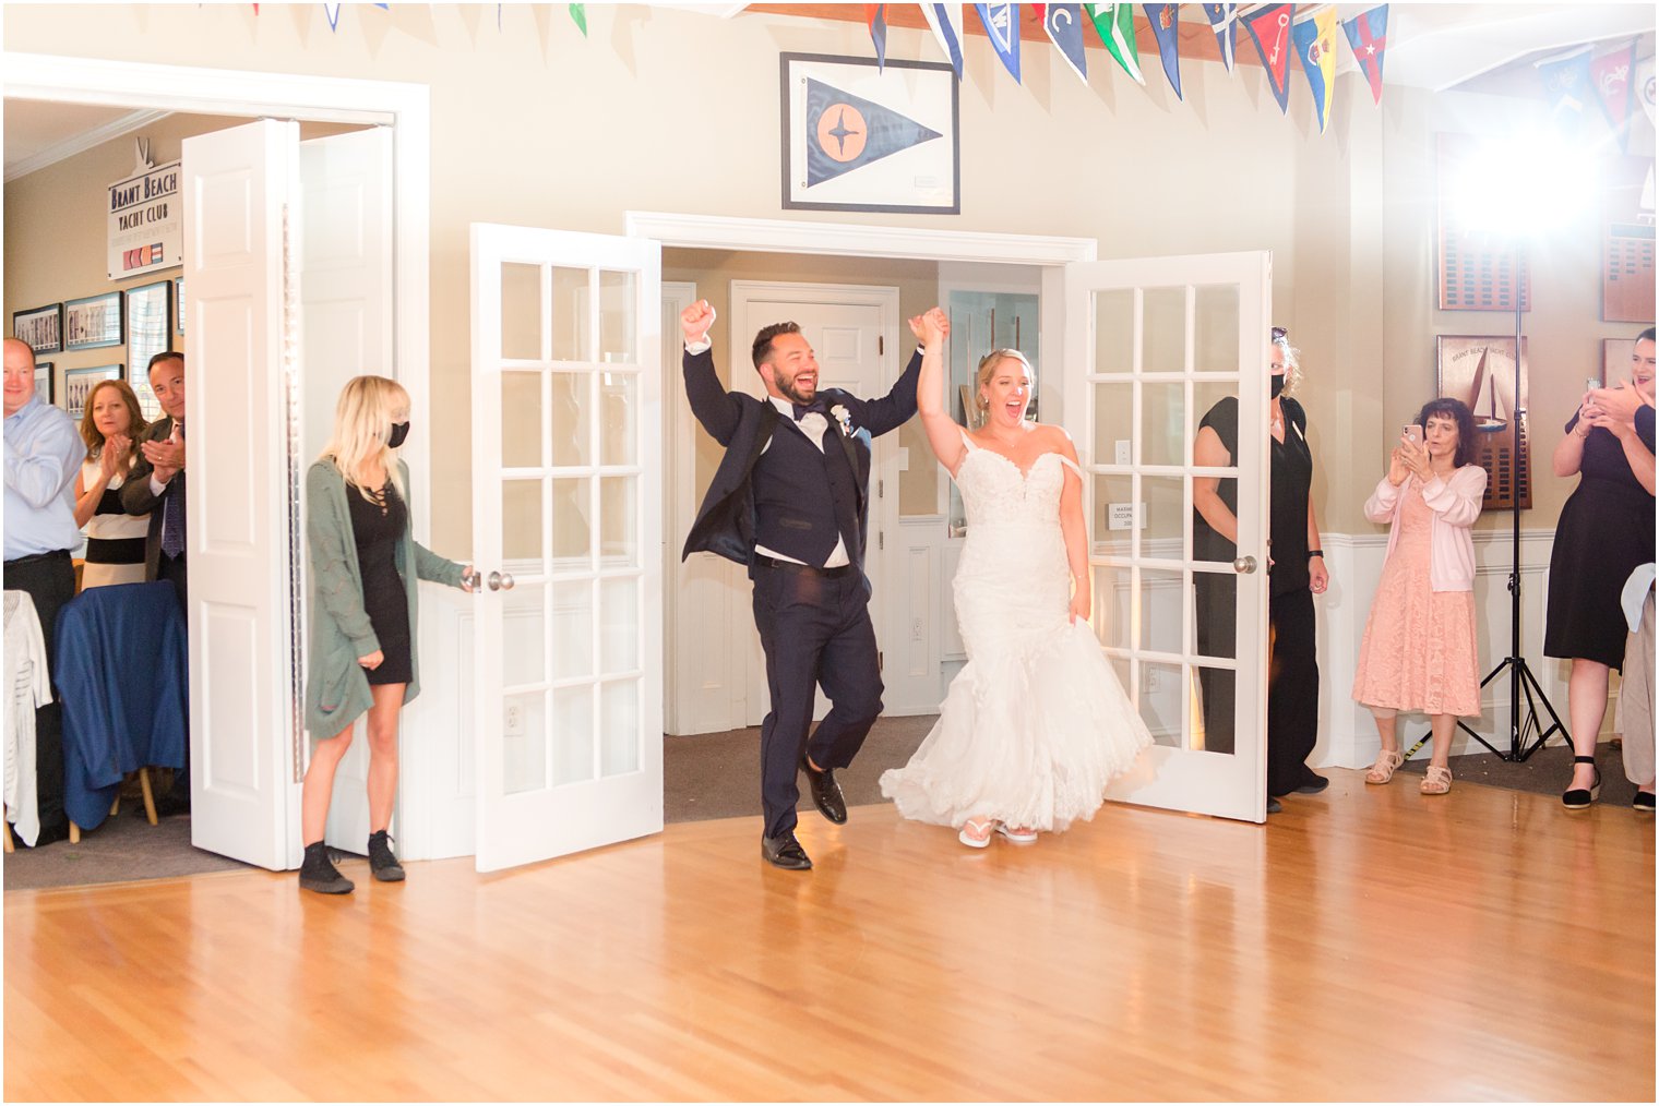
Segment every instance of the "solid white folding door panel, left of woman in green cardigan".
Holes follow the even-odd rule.
[[[297,153],[299,124],[272,119],[187,138],[182,153],[191,842],[270,869],[299,852],[304,736],[289,499],[300,459],[280,433],[297,403],[284,343]]]

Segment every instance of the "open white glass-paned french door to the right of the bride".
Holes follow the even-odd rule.
[[[1067,267],[1093,627],[1156,743],[1110,799],[1266,817],[1271,277],[1266,252]],[[1238,405],[1238,464],[1196,468],[1223,400]],[[1238,481],[1236,562],[1194,557],[1194,478]]]

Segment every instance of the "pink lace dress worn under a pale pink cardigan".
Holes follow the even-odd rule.
[[[1428,715],[1480,715],[1475,594],[1428,584],[1433,511],[1412,478],[1400,494],[1400,539],[1382,565],[1354,673],[1354,700]]]

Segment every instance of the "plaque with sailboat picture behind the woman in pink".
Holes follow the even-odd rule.
[[[1513,337],[1440,335],[1435,338],[1435,365],[1437,395],[1462,400],[1475,413],[1480,464],[1486,469],[1486,499],[1481,506],[1513,507],[1520,496],[1520,506],[1531,507],[1526,340],[1521,338],[1518,373]],[[1516,386],[1520,403],[1515,400]],[[1516,429],[1521,436],[1520,456],[1515,451]]]

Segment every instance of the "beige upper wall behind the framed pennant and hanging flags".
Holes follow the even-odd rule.
[[[971,38],[961,216],[783,212],[778,53],[868,56],[859,23],[591,5],[582,40],[562,5],[509,5],[503,32],[491,5],[348,5],[337,35],[322,5],[272,5],[257,17],[249,5],[7,5],[3,18],[17,51],[431,86],[433,410],[456,413],[435,444],[433,507],[436,542],[456,555],[469,544],[463,413],[474,221],[615,234],[624,211],[642,209],[1093,237],[1102,257],[1271,249],[1274,317],[1292,328],[1309,370],[1317,506],[1327,529],[1350,532],[1370,531],[1360,502],[1392,428],[1432,390],[1433,335],[1503,330],[1498,315],[1433,310],[1432,156],[1437,129],[1506,123],[1525,109],[1513,101],[1389,86],[1379,109],[1345,75],[1332,129],[1319,136],[1299,75],[1284,118],[1254,66],[1228,75],[1188,63],[1181,103],[1156,73],[1135,88],[1098,51],[1085,86],[1042,43],[1027,45],[1025,86],[1015,86],[984,40]],[[932,60],[934,46],[894,30],[889,56]],[[1639,141],[1651,153],[1651,134]],[[1598,340],[1636,332],[1598,322],[1599,232],[1591,214],[1579,222],[1535,264],[1540,310],[1528,330],[1545,451]],[[7,230],[10,302],[12,267],[23,264],[13,262],[10,214]],[[753,264],[785,279],[841,272],[815,262],[803,277]],[[919,441],[906,444],[921,453]],[[1535,471],[1548,473],[1546,459],[1538,454]],[[1541,479],[1526,526],[1551,526],[1566,491]]]

